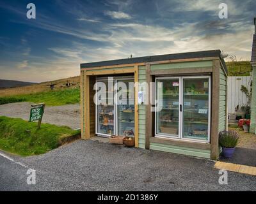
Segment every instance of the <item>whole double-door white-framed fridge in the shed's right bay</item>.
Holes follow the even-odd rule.
[[[211,77],[156,78],[155,134],[209,142]]]

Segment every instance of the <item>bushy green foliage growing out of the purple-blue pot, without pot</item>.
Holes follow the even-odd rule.
[[[219,134],[219,143],[221,147],[234,148],[239,140],[236,131],[221,131]]]

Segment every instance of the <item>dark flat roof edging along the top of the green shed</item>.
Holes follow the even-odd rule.
[[[80,64],[81,68],[94,68],[99,66],[114,66],[118,64],[134,64],[141,62],[156,62],[156,61],[165,61],[165,60],[175,60],[175,59],[193,59],[193,58],[202,58],[202,57],[220,57],[221,62],[224,66],[224,69],[227,71],[227,67],[223,58],[221,57],[220,50],[207,50],[200,52],[186,52],[179,54],[166,54],[166,55],[153,55],[145,57],[132,57],[127,59],[116,59],[111,61],[101,61],[101,62],[90,62]]]

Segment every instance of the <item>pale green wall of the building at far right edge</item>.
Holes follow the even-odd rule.
[[[252,73],[252,101],[251,101],[251,124],[250,133],[256,134],[256,66]]]

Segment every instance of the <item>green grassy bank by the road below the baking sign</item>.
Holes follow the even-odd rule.
[[[68,127],[36,126],[37,122],[0,116],[0,149],[20,156],[44,154],[80,134]]]

